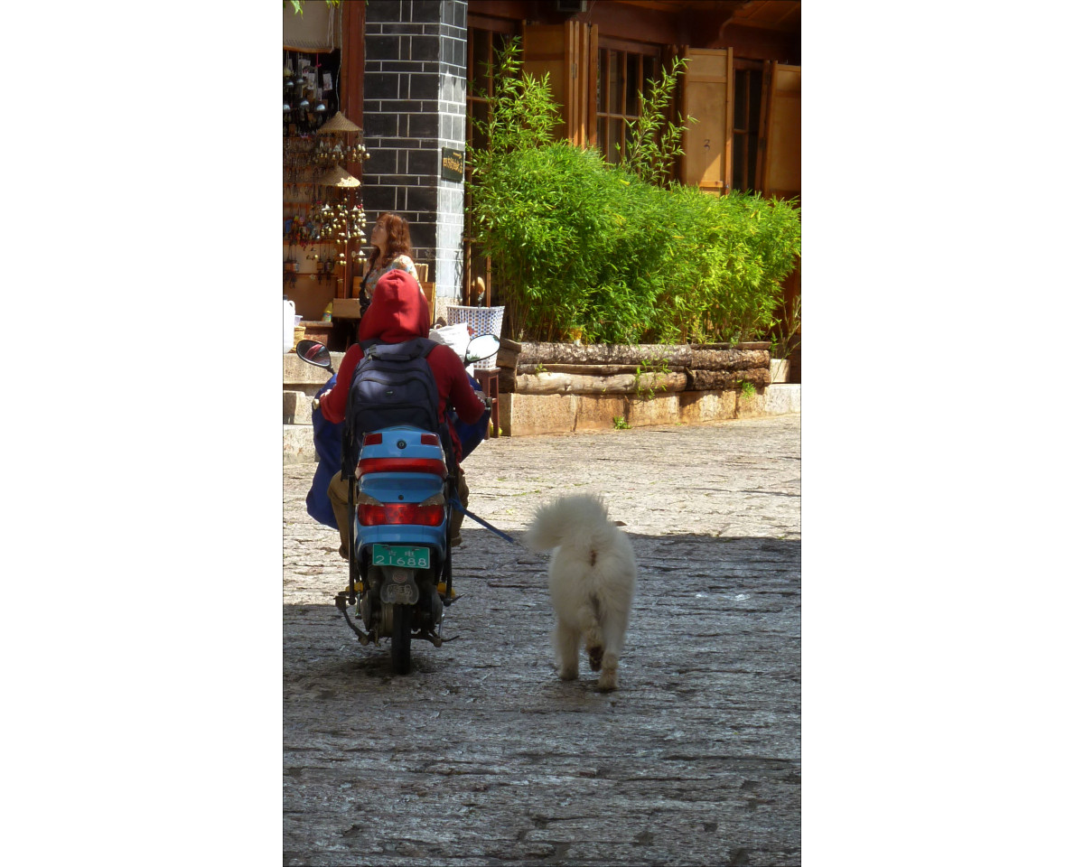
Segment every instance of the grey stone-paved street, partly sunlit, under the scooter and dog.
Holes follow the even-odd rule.
[[[338,535],[284,474],[285,865],[798,865],[800,436],[785,415],[493,439],[469,508],[519,539],[595,492],[640,565],[620,688],[557,678],[546,555],[464,522],[443,647],[362,647]]]

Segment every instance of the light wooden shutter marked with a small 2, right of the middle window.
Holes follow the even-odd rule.
[[[686,48],[682,94],[686,121],[682,182],[706,193],[731,189],[734,164],[734,59],[730,49]]]

